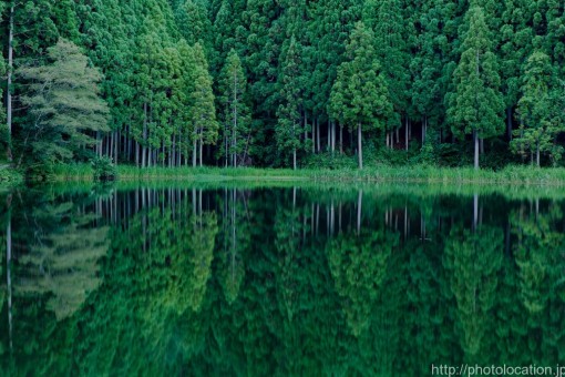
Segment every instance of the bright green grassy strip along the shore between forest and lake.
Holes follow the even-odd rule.
[[[508,166],[501,171],[471,167],[374,166],[358,170],[282,170],[220,167],[150,167],[119,166],[120,181],[154,182],[222,182],[222,181],[310,181],[310,182],[402,182],[445,184],[506,184],[565,186],[565,169]],[[53,181],[92,181],[90,165],[61,165],[54,169]]]

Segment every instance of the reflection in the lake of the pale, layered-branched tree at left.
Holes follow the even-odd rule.
[[[37,208],[32,216],[58,226],[35,230],[29,253],[18,259],[20,274],[16,293],[52,293],[47,308],[60,320],[78,310],[86,296],[99,287],[97,262],[109,247],[109,227],[92,227],[96,216],[76,211],[71,202]]]

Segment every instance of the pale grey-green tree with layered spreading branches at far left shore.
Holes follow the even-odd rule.
[[[109,109],[96,86],[102,75],[72,42],[61,39],[48,51],[49,64],[18,71],[30,81],[30,92],[21,101],[30,108],[23,132],[31,151],[22,153],[31,152],[45,163],[80,159],[96,142],[92,132],[109,130]]]

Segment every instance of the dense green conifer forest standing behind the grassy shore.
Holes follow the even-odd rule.
[[[558,165],[559,0],[6,0],[0,159]]]

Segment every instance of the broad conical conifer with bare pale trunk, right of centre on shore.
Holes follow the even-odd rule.
[[[392,116],[392,103],[373,48],[372,32],[356,24],[331,90],[329,112],[333,119],[357,130],[359,169],[363,167],[362,130],[384,129]]]

